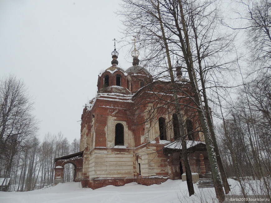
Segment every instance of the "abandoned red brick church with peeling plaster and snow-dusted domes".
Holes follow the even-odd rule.
[[[182,178],[185,169],[170,82],[153,79],[139,66],[138,55],[134,49],[132,66],[124,71],[118,67],[116,49],[112,52],[112,66],[98,76],[97,95],[83,110],[80,152],[55,158],[54,184],[63,182],[67,163],[74,165],[74,181],[93,189]],[[180,67],[175,72],[191,171],[202,177],[210,171],[206,145],[189,99],[189,83]]]

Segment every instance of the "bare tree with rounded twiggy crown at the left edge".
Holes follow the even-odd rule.
[[[22,80],[4,76],[0,80],[0,159],[6,164],[1,176],[10,175],[13,158],[36,135],[37,121],[31,114],[33,101]]]

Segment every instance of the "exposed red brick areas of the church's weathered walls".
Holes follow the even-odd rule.
[[[119,70],[114,72],[113,74],[111,74],[110,72],[104,72],[102,76],[99,77],[98,79],[99,88],[103,87],[103,77],[105,75],[109,75],[109,86],[116,85],[116,75],[121,75],[121,86],[127,88],[127,77],[130,77],[130,76],[125,76]],[[148,77],[142,76],[142,78],[147,80]],[[135,90],[138,90],[140,88],[140,81],[141,80],[131,76],[130,84],[132,84],[133,86],[133,92],[135,92]],[[193,118],[193,128],[195,129],[196,126],[200,124],[198,116],[197,116],[197,112],[195,109],[187,107],[187,106],[195,106],[195,105],[191,102],[191,100],[188,97],[185,97],[187,95],[192,95],[192,93],[190,92],[190,86],[182,85],[181,87],[183,91],[185,92],[185,93],[181,93],[181,92],[178,93],[178,95],[181,98],[179,102],[181,104],[181,107],[183,107],[182,113],[185,115],[185,117],[191,116],[191,118]],[[128,126],[128,130],[132,131],[133,137],[134,137],[134,143],[135,143],[134,147],[140,146],[141,136],[143,136],[145,132],[148,130],[148,129],[145,129],[145,123],[144,123],[145,121],[144,112],[146,111],[148,104],[152,103],[152,101],[155,101],[153,103],[153,108],[156,108],[157,106],[161,104],[165,104],[164,101],[170,101],[170,100],[172,101],[173,98],[172,98],[172,92],[170,91],[170,88],[171,88],[171,85],[169,83],[166,84],[166,83],[155,82],[153,86],[147,85],[144,88],[142,88],[140,91],[136,92],[136,94],[132,98],[133,103],[122,102],[122,101],[119,101],[119,99],[114,101],[114,98],[111,100],[97,99],[95,104],[93,104],[94,106],[91,111],[87,112],[87,108],[83,110],[81,132],[83,128],[87,125],[88,134],[85,136],[90,136],[91,122],[93,119],[92,115],[94,115],[95,125],[92,126],[92,128],[94,128],[95,135],[96,135],[95,146],[106,147],[106,132],[104,129],[107,125],[108,116],[111,116],[112,113],[114,113],[112,116],[116,117],[117,121],[125,121]],[[158,90],[164,90],[165,95],[155,95],[154,93],[152,93],[152,92],[157,92]],[[121,94],[124,94],[124,93],[121,93]],[[126,92],[125,94],[129,94],[129,92]],[[102,95],[101,97],[110,99],[110,96],[107,96],[107,95]],[[160,102],[157,102],[159,100],[159,97],[161,98]],[[121,99],[125,100],[125,97]],[[109,107],[112,107],[112,108],[109,108]],[[159,113],[155,115],[156,117],[154,118],[154,123],[155,123],[155,120],[157,121],[159,117],[163,117],[165,114],[171,115],[175,113],[174,104],[166,104],[162,108],[159,108],[158,112]],[[169,119],[172,119],[172,118],[169,118]],[[197,130],[200,130],[200,128],[198,128]],[[197,133],[196,133],[196,138],[199,139],[199,136]],[[167,139],[172,141],[169,135],[167,135]],[[157,138],[155,141],[159,142],[159,138]],[[171,171],[171,173],[169,174],[165,170],[160,170],[159,172],[156,173],[156,175],[169,176],[170,179],[180,178],[181,174],[179,172],[179,162],[180,162],[179,157],[170,158],[170,156],[165,155],[162,149],[164,145],[149,144],[149,146],[157,147],[157,153],[158,153],[157,158],[160,159],[159,166],[161,168],[165,168],[168,166]],[[86,150],[89,151],[90,149],[86,148]],[[125,149],[114,149],[114,150],[122,151]],[[88,152],[85,152],[85,153],[88,153]],[[207,163],[207,161],[205,162]],[[194,159],[193,157],[190,157],[190,166],[191,166],[192,172],[197,172],[196,159]],[[121,186],[129,182],[138,182],[139,184],[143,184],[143,185],[160,184],[161,182],[164,182],[167,180],[166,178],[142,178],[141,176],[136,175],[135,166],[134,166],[134,171],[135,171],[135,176],[137,176],[138,178],[89,179],[87,174],[83,174],[84,179],[82,180],[82,185],[83,187],[90,187],[90,188],[96,189],[96,188],[104,187],[107,185]],[[183,167],[183,172],[185,172],[184,167]]]

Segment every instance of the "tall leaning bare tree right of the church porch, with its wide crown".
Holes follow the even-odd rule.
[[[163,71],[161,67],[170,70],[170,60],[174,55],[181,58],[183,71],[187,72],[193,91],[191,99],[196,104],[195,109],[197,109],[202,124],[201,129],[207,144],[216,194],[219,200],[223,201],[224,192],[218,175],[216,157],[214,157],[216,155],[214,151],[216,151],[217,158],[219,158],[219,151],[212,119],[208,113],[206,88],[209,88],[207,79],[210,73],[220,72],[223,67],[226,67],[228,62],[222,62],[225,55],[222,57],[223,54],[220,56],[220,53],[231,51],[233,37],[219,32],[218,24],[221,16],[217,15],[215,1],[126,0],[124,2],[126,11],[122,14],[126,17],[124,20],[127,28],[125,34],[128,37],[140,36],[141,47],[144,47],[145,50],[145,63],[155,66],[156,72],[160,71],[160,75],[157,73],[160,76],[158,78],[166,77],[166,71]],[[167,61],[167,65],[162,63],[165,61],[164,59]],[[168,74],[169,79],[170,77],[172,76]],[[205,107],[202,105],[202,91]],[[221,161],[219,162],[223,173],[223,165]],[[228,192],[226,176],[223,176],[223,181],[226,192]]]

